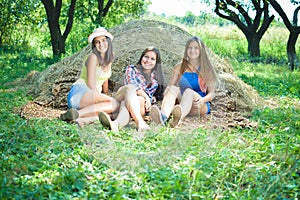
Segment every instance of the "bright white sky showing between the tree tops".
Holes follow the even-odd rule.
[[[151,0],[151,2],[149,11],[158,15],[164,13],[166,16],[176,15],[182,17],[187,11],[191,11],[194,15],[199,15],[201,10],[212,10],[212,8],[207,8],[207,5],[201,4],[200,0]],[[286,11],[289,19],[291,19],[292,11],[295,10],[295,7],[289,0],[277,0],[277,2]]]

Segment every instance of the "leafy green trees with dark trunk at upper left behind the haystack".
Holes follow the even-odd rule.
[[[59,58],[66,52],[66,42],[73,31],[76,32],[72,34],[76,36],[73,40],[81,41],[81,35],[90,33],[97,26],[112,27],[139,18],[146,12],[148,4],[149,0],[0,0],[0,47],[12,47],[20,42],[24,47],[23,43],[32,39],[43,23],[48,22],[52,53]],[[73,22],[80,30],[72,29]]]

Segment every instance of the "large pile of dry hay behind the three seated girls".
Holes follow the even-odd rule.
[[[113,75],[110,80],[111,91],[122,85],[125,67],[128,64],[135,64],[148,46],[159,48],[167,84],[173,66],[183,56],[186,41],[192,36],[177,26],[153,20],[131,21],[110,29],[110,32],[114,35],[115,53]],[[49,66],[45,71],[29,74],[26,82],[30,86],[30,94],[35,98],[34,103],[53,109],[66,109],[67,93],[80,74],[84,58],[90,52],[91,47],[87,45],[78,53]],[[210,56],[223,83],[213,105],[216,108],[217,105],[222,105],[229,111],[249,115],[260,101],[257,92],[233,73],[231,65],[226,60],[213,52],[210,52]],[[23,110],[23,113],[26,112]]]

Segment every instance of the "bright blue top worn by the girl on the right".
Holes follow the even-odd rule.
[[[200,90],[198,74],[196,72],[184,72],[181,75],[179,87],[181,94],[183,94],[185,89],[191,88],[192,90],[197,92],[201,97],[206,96],[206,94]]]

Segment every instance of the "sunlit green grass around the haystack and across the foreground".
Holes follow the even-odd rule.
[[[32,97],[6,83],[54,61],[2,51],[0,199],[299,198],[299,70],[290,72],[283,57],[279,64],[247,62],[245,49],[234,45],[242,41],[218,37],[208,46],[222,46],[235,73],[276,103],[253,112],[256,128],[182,133],[152,125],[139,135],[132,127],[112,133],[100,123],[26,120],[16,110]]]

